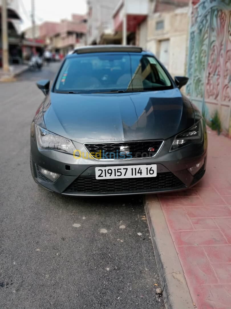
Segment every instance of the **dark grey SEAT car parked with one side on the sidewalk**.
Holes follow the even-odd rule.
[[[67,55],[31,124],[34,180],[65,195],[183,190],[204,175],[205,122],[170,76],[135,46],[82,47]]]

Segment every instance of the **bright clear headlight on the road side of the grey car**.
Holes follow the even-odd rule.
[[[38,146],[43,150],[57,150],[73,155],[74,144],[68,138],[51,133],[38,125],[35,125]]]

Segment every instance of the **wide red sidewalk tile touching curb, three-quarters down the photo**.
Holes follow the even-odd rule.
[[[181,231],[172,232],[172,235],[177,246],[227,244],[220,231]]]

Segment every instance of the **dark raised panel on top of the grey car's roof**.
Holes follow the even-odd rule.
[[[105,53],[105,52],[124,52],[124,53],[141,53],[142,47],[131,45],[91,45],[76,48],[73,54],[85,53]]]

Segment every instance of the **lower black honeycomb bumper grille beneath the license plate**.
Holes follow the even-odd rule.
[[[161,192],[170,189],[186,188],[171,172],[158,173],[156,177],[95,179],[95,176],[79,176],[63,193],[120,194]]]

